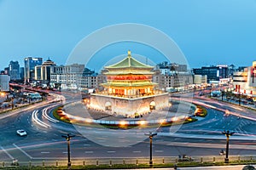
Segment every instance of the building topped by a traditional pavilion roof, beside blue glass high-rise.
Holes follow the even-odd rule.
[[[47,59],[43,65],[35,66],[35,80],[43,84],[49,84],[51,72],[55,72],[55,63]]]

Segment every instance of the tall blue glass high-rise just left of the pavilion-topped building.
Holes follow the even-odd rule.
[[[42,65],[43,58],[26,57],[24,59],[24,81],[32,82],[35,80],[35,66]]]

